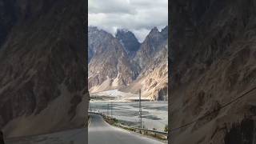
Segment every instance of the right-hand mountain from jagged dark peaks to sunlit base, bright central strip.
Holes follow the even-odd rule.
[[[158,101],[168,100],[167,38],[168,26],[161,31],[154,27],[142,42],[142,46],[134,58],[134,62],[140,66],[141,72],[135,82],[140,86],[135,85],[133,91],[138,91],[141,88],[142,96],[149,96],[150,99]]]

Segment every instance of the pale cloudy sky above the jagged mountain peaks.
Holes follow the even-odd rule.
[[[113,35],[130,30],[142,42],[154,26],[168,25],[168,0],[89,0],[88,25]]]

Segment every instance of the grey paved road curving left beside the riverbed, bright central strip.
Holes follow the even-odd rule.
[[[162,144],[126,130],[110,126],[98,114],[91,114],[89,144]]]

